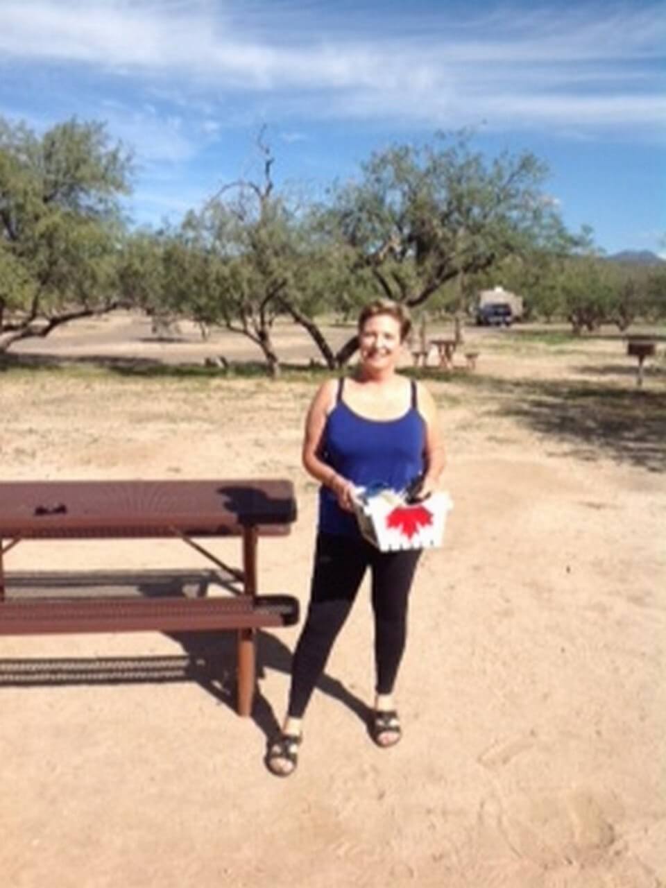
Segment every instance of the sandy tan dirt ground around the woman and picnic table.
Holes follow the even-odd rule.
[[[610,334],[468,337],[476,371],[431,371],[429,383],[455,508],[413,590],[402,742],[380,750],[366,732],[367,588],[286,781],[262,759],[298,627],[260,633],[248,719],[234,713],[229,635],[0,638],[3,885],[666,885],[663,359],[637,391]],[[293,329],[280,340],[289,361],[316,357]],[[157,342],[129,315],[17,353],[25,364],[0,372],[1,478],[292,479],[299,518],[261,543],[260,586],[305,607],[316,489],[299,448],[312,381],[180,372],[257,355],[192,330]],[[49,355],[108,368],[49,367]],[[238,560],[237,541],[214,548]],[[10,571],[36,567],[207,563],[168,542],[6,555]]]

